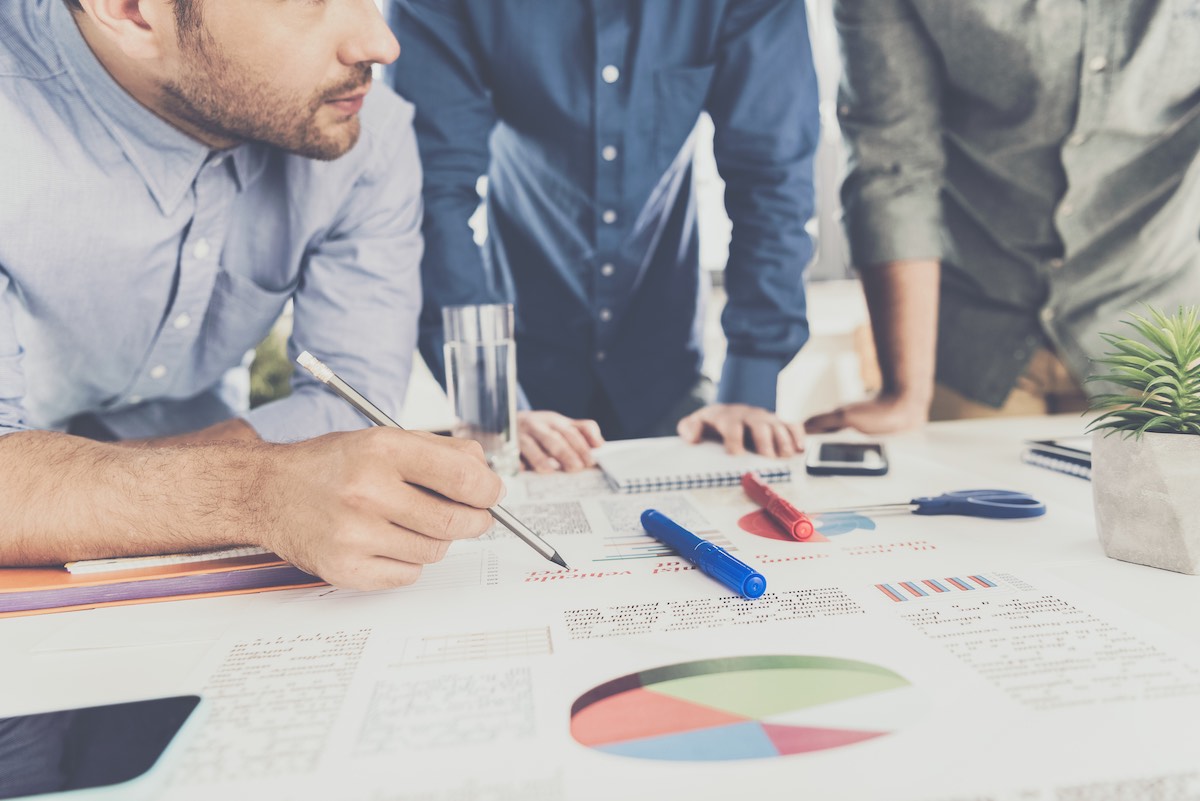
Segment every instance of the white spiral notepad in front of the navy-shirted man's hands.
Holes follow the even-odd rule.
[[[595,451],[596,464],[618,493],[696,489],[736,484],[742,474],[763,481],[791,481],[787,462],[757,453],[731,456],[719,442],[690,445],[678,436],[607,442]]]

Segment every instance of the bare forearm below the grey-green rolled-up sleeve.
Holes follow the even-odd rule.
[[[862,275],[883,393],[928,404],[936,367],[941,265],[888,261],[865,267]]]

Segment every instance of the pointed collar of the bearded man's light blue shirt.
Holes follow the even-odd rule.
[[[211,153],[208,145],[134,100],[91,52],[66,5],[56,1],[49,5],[59,52],[74,74],[84,100],[120,144],[158,209],[164,215],[174,212],[210,156],[220,157],[222,153]],[[232,155],[234,177],[239,188],[245,188],[262,173],[262,149],[240,145],[233,149]]]

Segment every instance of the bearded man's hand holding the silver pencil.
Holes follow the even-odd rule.
[[[412,584],[484,534],[504,493],[472,440],[371,428],[278,447],[257,493],[262,544],[340,588]]]

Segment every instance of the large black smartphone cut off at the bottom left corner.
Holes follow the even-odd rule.
[[[130,797],[125,783],[150,771],[199,703],[178,695],[0,717],[0,799],[114,784],[124,787],[104,797]]]

